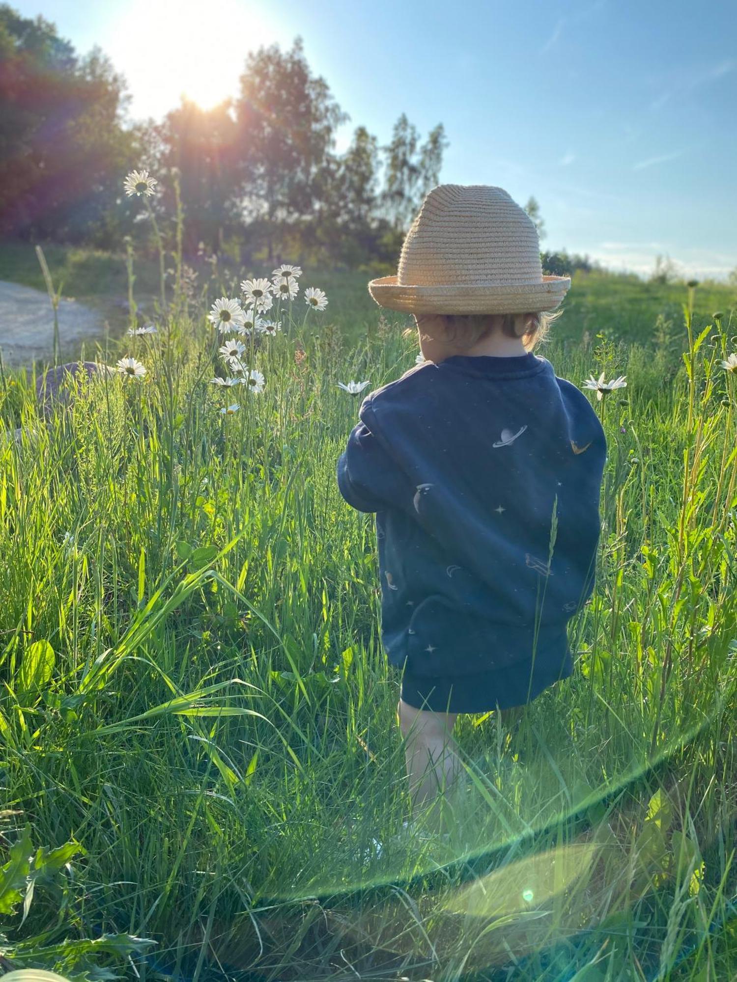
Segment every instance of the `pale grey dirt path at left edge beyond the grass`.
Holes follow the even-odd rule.
[[[103,318],[77,300],[59,303],[62,353],[79,348],[85,338],[99,338]],[[0,351],[6,364],[29,364],[53,355],[54,314],[46,294],[0,280]],[[91,354],[91,348],[90,352]]]

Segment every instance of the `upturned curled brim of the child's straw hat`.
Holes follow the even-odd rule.
[[[567,276],[543,276],[530,286],[407,286],[396,276],[369,283],[379,306],[408,313],[537,313],[554,310],[571,286]]]

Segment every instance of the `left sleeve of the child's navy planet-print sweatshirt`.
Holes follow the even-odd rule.
[[[340,493],[359,512],[402,508],[409,493],[409,478],[399,470],[376,435],[369,397],[360,414],[363,418],[353,428],[338,460]]]

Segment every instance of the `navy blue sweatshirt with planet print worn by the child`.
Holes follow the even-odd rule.
[[[453,355],[359,416],[337,479],[376,514],[389,662],[432,677],[564,655],[600,532],[606,439],[586,395],[533,352]]]

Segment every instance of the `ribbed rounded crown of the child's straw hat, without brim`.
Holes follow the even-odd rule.
[[[407,233],[402,286],[539,286],[535,222],[503,188],[437,185]]]

